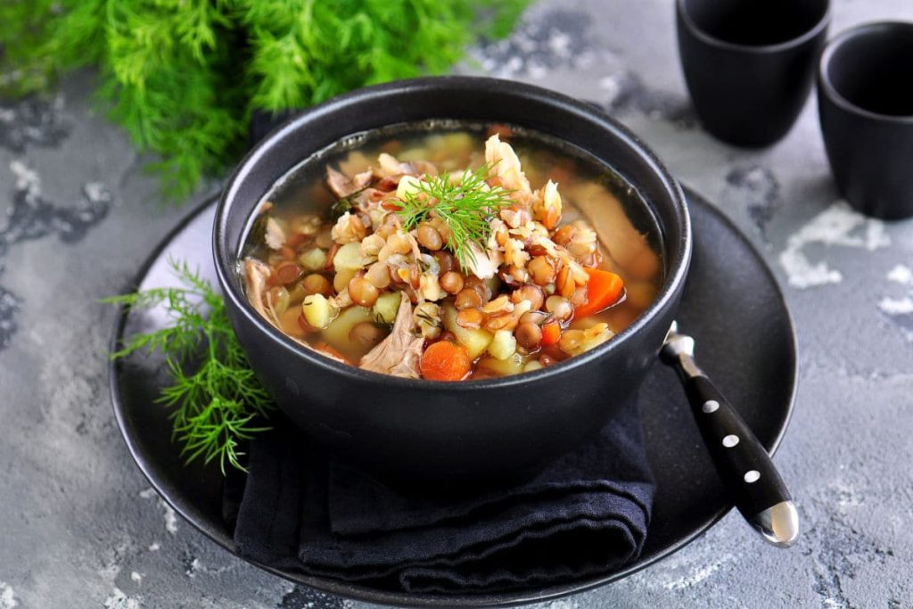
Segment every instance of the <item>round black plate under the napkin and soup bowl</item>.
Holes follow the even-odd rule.
[[[772,454],[786,430],[795,393],[796,347],[789,310],[770,269],[736,226],[697,194],[687,195],[695,244],[679,325],[695,336],[700,365]],[[215,284],[210,247],[214,211],[214,202],[206,202],[177,226],[153,252],[131,289],[173,285],[169,258],[187,260]],[[121,315],[114,340],[162,322],[154,310]],[[153,404],[162,381],[156,363],[142,357],[111,363],[111,400],[121,433],[163,499],[234,553],[222,520],[222,474],[218,467],[184,467],[171,443],[168,413]],[[519,593],[416,595],[257,566],[327,593],[372,603],[448,607],[544,601],[622,579],[679,550],[732,508],[671,369],[656,363],[641,404],[656,500],[645,549],[622,570]]]

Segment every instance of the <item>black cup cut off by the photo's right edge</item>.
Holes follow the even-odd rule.
[[[913,23],[854,27],[824,49],[818,108],[841,194],[866,215],[913,216]]]

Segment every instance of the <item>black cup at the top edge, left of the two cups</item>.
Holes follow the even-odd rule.
[[[678,52],[698,117],[724,142],[766,146],[812,89],[828,0],[677,0]]]

